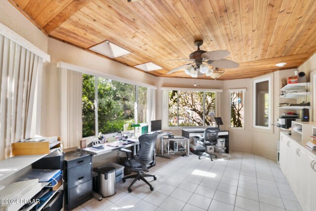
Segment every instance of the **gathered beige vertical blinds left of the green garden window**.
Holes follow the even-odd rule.
[[[78,147],[82,138],[82,73],[60,68],[60,133],[65,149]]]

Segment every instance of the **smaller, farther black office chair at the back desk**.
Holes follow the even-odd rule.
[[[213,161],[212,156],[217,158],[217,155],[207,152],[207,147],[208,146],[214,146],[215,144],[217,144],[218,132],[219,132],[219,128],[218,127],[209,127],[209,128],[205,129],[203,137],[200,137],[197,140],[197,143],[203,145],[204,148],[205,148],[205,152],[200,154],[198,156],[198,159],[201,159],[202,156],[204,156],[205,158],[209,157],[211,159],[211,161]]]

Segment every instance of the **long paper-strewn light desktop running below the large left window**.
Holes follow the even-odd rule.
[[[165,136],[165,135],[168,135],[168,134],[171,134],[171,132],[159,133],[157,138],[160,138],[161,139],[161,143],[162,143],[162,137]],[[133,147],[134,148],[134,153],[135,153],[137,151],[136,150],[136,146],[139,145],[138,138],[128,138],[128,140],[132,140],[132,141],[134,141],[134,143],[121,145],[121,146],[118,146],[118,147],[110,147],[110,146],[107,146],[106,144],[104,144],[104,149],[102,149],[102,150],[91,150],[91,149],[89,149],[89,147],[86,147],[86,148],[83,148],[83,149],[78,149],[78,150],[82,151],[82,152],[85,152],[85,153],[88,153],[88,154],[91,154],[93,156],[98,156],[98,155],[103,155],[103,154],[106,154],[106,153],[109,153],[109,152],[113,152],[115,150],[119,150],[121,148]]]

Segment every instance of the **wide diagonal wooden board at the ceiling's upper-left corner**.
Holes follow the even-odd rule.
[[[34,20],[43,28],[72,1],[73,0],[51,0]]]

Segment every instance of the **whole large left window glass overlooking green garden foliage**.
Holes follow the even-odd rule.
[[[86,74],[82,78],[82,137],[122,131],[124,124],[132,129],[133,123],[146,122],[146,87]]]

